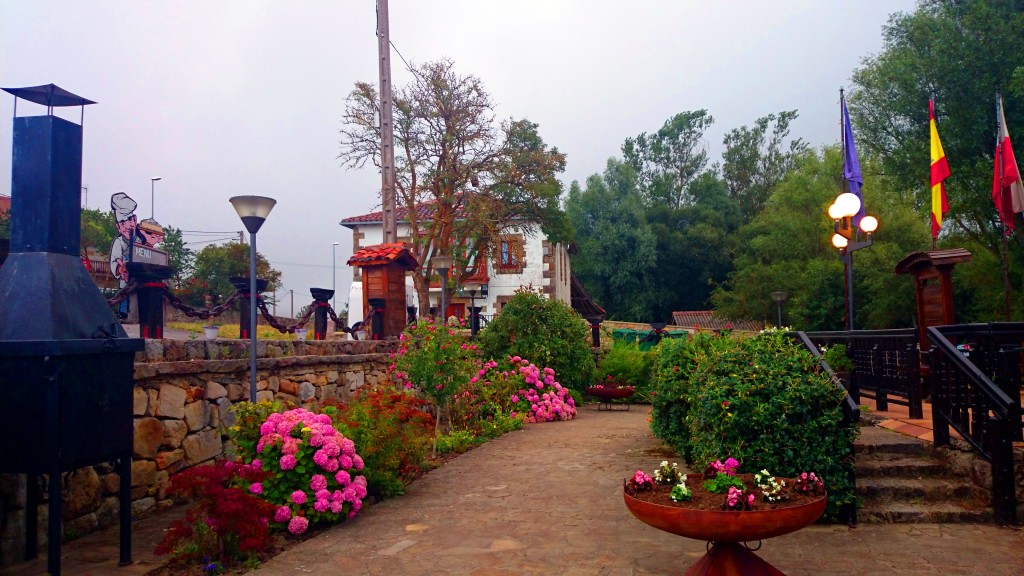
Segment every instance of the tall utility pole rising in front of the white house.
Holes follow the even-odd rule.
[[[387,0],[377,0],[377,53],[380,58],[381,92],[381,205],[384,242],[397,242],[394,199],[394,126],[391,120],[391,37],[388,32]]]

